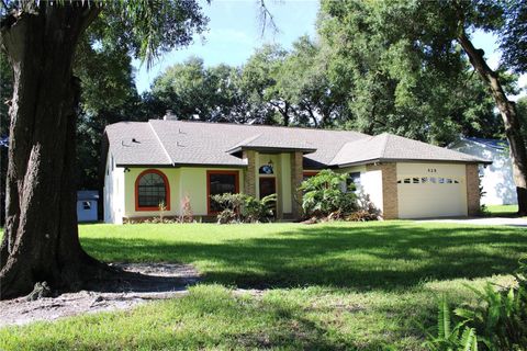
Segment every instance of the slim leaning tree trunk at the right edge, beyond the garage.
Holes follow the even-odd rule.
[[[486,65],[483,58],[483,50],[476,49],[464,32],[458,36],[458,41],[469,56],[474,69],[491,89],[491,93],[502,115],[513,161],[514,182],[516,183],[518,196],[518,214],[525,216],[527,215],[527,151],[522,137],[516,104],[505,95],[498,75]]]

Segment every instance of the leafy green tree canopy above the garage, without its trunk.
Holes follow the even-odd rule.
[[[498,136],[492,97],[456,44],[448,11],[436,5],[323,1],[319,32],[330,80],[347,92],[350,127],[440,145],[460,133]]]

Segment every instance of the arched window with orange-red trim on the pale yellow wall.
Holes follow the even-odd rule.
[[[170,210],[170,186],[167,177],[148,169],[135,181],[135,211],[159,211],[160,205]]]

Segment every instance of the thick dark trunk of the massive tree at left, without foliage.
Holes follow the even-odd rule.
[[[13,14],[1,38],[14,72],[10,107],[5,229],[0,247],[0,298],[46,281],[80,288],[104,265],[81,248],[74,179],[79,87],[72,57],[98,10],[80,2],[41,2],[36,14]]]

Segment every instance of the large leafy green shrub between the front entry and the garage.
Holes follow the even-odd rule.
[[[304,192],[302,208],[307,217],[343,218],[357,208],[355,186],[346,184],[347,173],[335,173],[323,170],[315,177],[302,182],[300,190]]]

